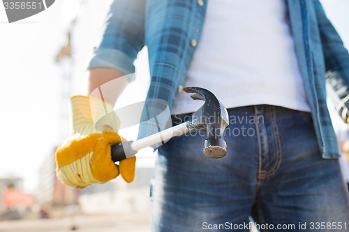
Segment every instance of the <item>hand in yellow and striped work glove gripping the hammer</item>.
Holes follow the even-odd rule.
[[[103,122],[103,131],[95,129],[92,119],[112,111],[112,105],[86,96],[75,96],[70,104],[73,131],[56,151],[59,180],[71,187],[84,188],[92,183],[105,183],[120,173],[131,183],[135,177],[135,156],[122,160],[119,165],[112,162],[110,144],[121,142],[115,132],[117,117]]]

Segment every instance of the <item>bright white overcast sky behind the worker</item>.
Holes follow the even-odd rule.
[[[0,4],[0,175],[23,177],[26,190],[34,190],[38,168],[61,143],[62,68],[54,63],[54,56],[79,2],[57,0],[42,13],[12,24],[8,24]],[[84,94],[84,68],[98,43],[108,3],[110,0],[89,0],[80,9],[72,95]],[[322,3],[348,47],[349,1]],[[144,60],[141,63],[141,70],[147,72]]]

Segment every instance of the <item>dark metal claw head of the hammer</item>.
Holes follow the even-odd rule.
[[[186,87],[186,93],[191,95],[193,100],[204,100],[205,103],[191,115],[188,122],[190,130],[206,132],[207,139],[204,143],[204,154],[210,158],[220,158],[227,153],[227,144],[224,141],[223,133],[229,125],[228,111],[216,96],[205,88]]]

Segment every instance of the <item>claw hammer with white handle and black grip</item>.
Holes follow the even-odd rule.
[[[204,105],[198,111],[195,111],[191,115],[191,118],[184,123],[156,134],[151,134],[137,141],[114,144],[112,146],[112,161],[124,160],[135,155],[142,148],[194,131],[207,133],[203,150],[207,157],[214,159],[223,157],[227,153],[227,144],[223,138],[224,130],[229,125],[227,109],[225,109],[213,93],[205,88],[186,87],[183,88],[183,91],[194,93],[191,95],[191,98],[193,100],[204,100]]]

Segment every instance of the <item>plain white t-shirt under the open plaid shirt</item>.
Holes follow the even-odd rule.
[[[185,86],[207,88],[226,108],[267,104],[310,111],[285,1],[208,1]],[[200,105],[181,92],[172,114]]]

